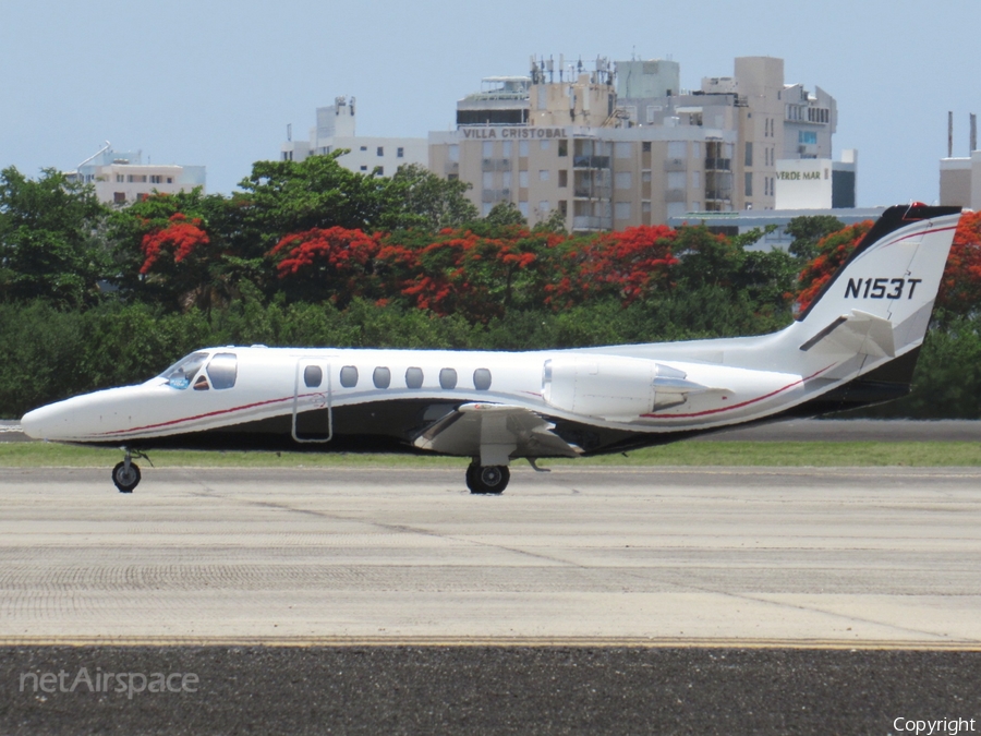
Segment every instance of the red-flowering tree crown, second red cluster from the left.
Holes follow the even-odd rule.
[[[288,234],[269,251],[293,299],[346,306],[356,297],[377,298],[375,258],[380,236],[341,227]]]

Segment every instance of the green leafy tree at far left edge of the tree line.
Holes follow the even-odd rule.
[[[98,301],[107,213],[90,185],[55,169],[37,180],[14,167],[0,171],[0,300],[75,309]]]

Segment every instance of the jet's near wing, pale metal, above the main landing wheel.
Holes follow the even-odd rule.
[[[555,424],[530,409],[506,403],[464,403],[426,427],[416,447],[479,457],[481,464],[506,466],[508,458],[577,457],[582,453],[554,434]]]

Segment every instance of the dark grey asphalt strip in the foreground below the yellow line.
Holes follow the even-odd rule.
[[[111,692],[84,680],[48,693],[19,685],[24,673],[63,671],[68,690],[82,668],[197,679],[194,691],[132,699],[129,681],[123,692],[116,680]],[[0,688],[0,732],[25,736],[901,734],[937,719],[981,728],[981,654],[952,652],[7,648]]]

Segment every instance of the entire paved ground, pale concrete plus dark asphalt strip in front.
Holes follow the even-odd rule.
[[[462,471],[0,469],[0,733],[981,728],[981,470]]]

